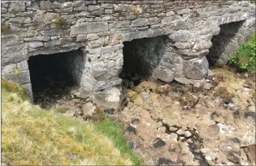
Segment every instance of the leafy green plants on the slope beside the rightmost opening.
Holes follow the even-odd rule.
[[[255,70],[255,32],[250,39],[238,48],[232,57],[228,59],[228,64],[235,66],[238,71]]]

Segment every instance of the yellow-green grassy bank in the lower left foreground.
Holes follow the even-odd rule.
[[[31,104],[20,86],[1,82],[1,162],[7,165],[141,165],[122,124],[88,123]]]

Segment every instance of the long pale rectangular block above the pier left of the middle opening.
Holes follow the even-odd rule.
[[[109,25],[107,22],[85,22],[79,25],[73,25],[70,29],[70,35],[97,33],[103,31],[109,31]]]

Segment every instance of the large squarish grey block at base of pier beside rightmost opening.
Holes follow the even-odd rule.
[[[207,77],[209,63],[206,57],[183,60],[183,74],[187,78],[201,80]]]

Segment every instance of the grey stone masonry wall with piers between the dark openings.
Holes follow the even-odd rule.
[[[249,1],[1,1],[1,74],[31,91],[28,57],[81,48],[79,84],[99,91],[121,84],[124,41],[166,35],[162,63],[177,58],[173,65],[180,66],[168,72],[168,81],[203,79],[213,35],[220,25],[242,20],[245,30],[255,24]],[[249,33],[243,31],[240,42]],[[156,72],[162,73],[162,63]]]

